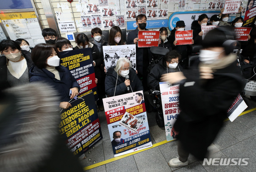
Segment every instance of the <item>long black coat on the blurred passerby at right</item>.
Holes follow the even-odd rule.
[[[242,89],[241,74],[236,62],[214,72],[213,79],[199,79],[195,71],[183,73],[187,79],[180,84],[181,113],[174,128],[183,148],[203,159]]]

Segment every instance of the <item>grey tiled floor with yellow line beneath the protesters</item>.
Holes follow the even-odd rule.
[[[250,110],[256,107],[251,101]],[[246,111],[245,110],[245,111]],[[85,153],[86,159],[81,160],[84,167],[109,160],[114,157],[110,135],[108,133],[105,113],[99,112],[103,139],[94,148]],[[155,113],[148,113],[149,130],[152,143],[166,140],[164,128],[159,128],[155,122]],[[109,162],[87,172],[255,172],[256,171],[256,111],[239,116],[234,122],[224,122],[218,137],[210,146],[213,158],[248,158],[248,165],[203,165],[202,161],[189,156],[189,165],[171,168],[167,161],[177,156],[177,142],[172,141],[157,147],[139,152],[128,157]]]

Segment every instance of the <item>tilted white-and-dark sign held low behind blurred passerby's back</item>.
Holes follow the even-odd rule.
[[[238,117],[242,111],[244,111],[248,106],[245,104],[245,101],[242,99],[242,96],[238,94],[236,99],[233,101],[232,105],[228,109],[228,118],[231,122]]]

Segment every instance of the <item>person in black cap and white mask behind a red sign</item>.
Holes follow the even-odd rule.
[[[189,48],[190,45],[176,45],[177,41],[175,40],[175,32],[176,32],[176,30],[178,30],[178,31],[185,30],[185,26],[186,25],[183,20],[177,21],[176,27],[171,30],[171,34],[168,37],[168,40],[170,41],[170,43],[172,45],[172,50],[176,50],[178,53],[181,54],[180,61],[187,58],[187,49]],[[194,43],[194,40],[192,40],[192,43]]]

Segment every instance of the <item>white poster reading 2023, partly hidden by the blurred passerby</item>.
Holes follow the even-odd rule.
[[[159,86],[161,91],[166,140],[171,141],[176,139],[178,134],[173,126],[181,112],[179,107],[180,85],[171,85],[167,82],[160,82]]]

